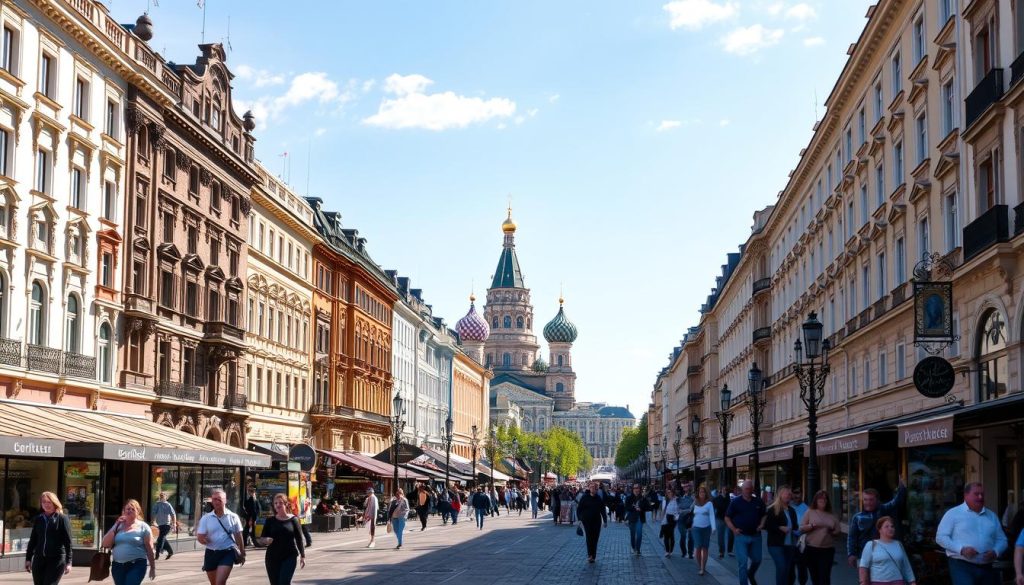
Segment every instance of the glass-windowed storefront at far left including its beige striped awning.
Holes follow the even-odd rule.
[[[238,509],[244,469],[268,464],[269,457],[143,417],[0,401],[0,572],[24,570],[43,492],[63,504],[74,562],[82,565],[125,501],[135,499],[147,511],[161,493],[177,511],[172,546],[198,547],[195,525],[210,492],[224,490],[228,507]]]

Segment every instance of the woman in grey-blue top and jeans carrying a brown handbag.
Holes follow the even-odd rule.
[[[135,500],[125,502],[121,516],[103,535],[103,548],[111,549],[111,577],[114,585],[139,585],[157,578],[157,558],[153,550],[153,531],[142,518],[142,506]]]

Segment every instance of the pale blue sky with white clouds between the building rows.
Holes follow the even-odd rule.
[[[511,201],[536,333],[564,291],[577,400],[639,418],[870,3],[206,0],[205,40],[229,42],[257,158],[452,327],[483,298]],[[195,0],[108,5],[123,23],[148,5],[151,46],[195,60]]]

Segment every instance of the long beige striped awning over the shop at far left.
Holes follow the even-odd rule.
[[[23,437],[26,433],[41,432],[51,440],[49,451],[46,444],[40,444],[33,448],[37,449],[35,452],[22,451],[15,454],[156,463],[270,466],[270,457],[267,455],[182,432],[141,416],[0,403],[0,436]],[[19,441],[23,441],[19,444],[22,447],[17,447],[17,441],[4,443],[9,443],[11,450],[15,447],[27,449],[24,440]],[[38,441],[33,438],[34,444],[38,444]],[[63,453],[58,453],[60,443],[63,444]]]

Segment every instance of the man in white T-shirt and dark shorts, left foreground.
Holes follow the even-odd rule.
[[[199,543],[206,547],[203,571],[210,585],[224,585],[236,565],[246,561],[246,547],[242,542],[242,518],[227,509],[227,494],[215,489],[210,494],[213,509],[203,514],[196,529]]]

